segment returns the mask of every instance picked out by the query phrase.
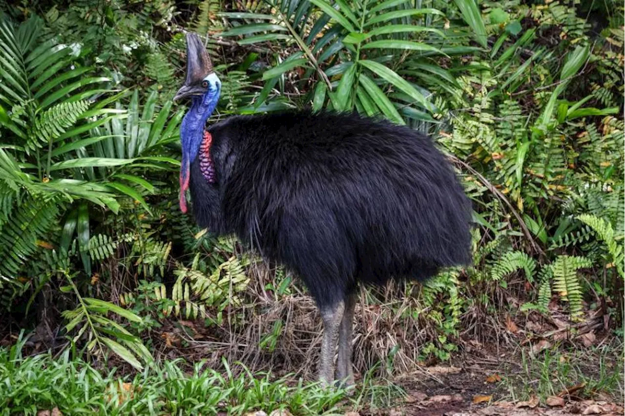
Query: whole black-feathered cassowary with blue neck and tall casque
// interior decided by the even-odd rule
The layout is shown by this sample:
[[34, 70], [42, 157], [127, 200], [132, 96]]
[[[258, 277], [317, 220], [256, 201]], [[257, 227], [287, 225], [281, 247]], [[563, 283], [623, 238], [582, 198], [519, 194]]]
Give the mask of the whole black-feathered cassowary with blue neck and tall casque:
[[[470, 259], [471, 204], [431, 139], [357, 114], [232, 116], [206, 127], [221, 81], [187, 34], [180, 207], [306, 285], [324, 326], [319, 379], [353, 384], [357, 285], [423, 280]], [[336, 374], [334, 350], [338, 343]]]

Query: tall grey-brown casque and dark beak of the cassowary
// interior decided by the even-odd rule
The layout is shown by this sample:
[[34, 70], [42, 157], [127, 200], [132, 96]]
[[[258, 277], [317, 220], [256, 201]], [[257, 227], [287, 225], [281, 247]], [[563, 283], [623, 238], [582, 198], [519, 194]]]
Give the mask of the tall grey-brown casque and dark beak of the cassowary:
[[208, 56], [206, 47], [195, 33], [187, 33], [187, 75], [181, 89], [176, 92], [174, 101], [202, 95], [206, 92], [199, 85], [208, 74], [212, 72], [211, 57]]

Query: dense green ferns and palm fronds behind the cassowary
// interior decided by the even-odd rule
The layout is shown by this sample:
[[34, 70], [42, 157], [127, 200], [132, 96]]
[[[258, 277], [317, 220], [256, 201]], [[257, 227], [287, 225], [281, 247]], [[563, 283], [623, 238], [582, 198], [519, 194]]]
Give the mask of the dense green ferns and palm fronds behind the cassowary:
[[2, 322], [62, 323], [68, 347], [143, 369], [141, 337], [149, 346], [168, 317], [242, 328], [256, 295], [300, 290], [178, 210], [185, 108], [171, 97], [192, 30], [223, 81], [214, 117], [357, 111], [431, 134], [454, 161], [474, 202], [474, 264], [396, 290], [416, 299], [397, 315], [434, 328], [419, 357], [448, 358], [477, 311], [602, 310], [618, 327], [622, 0], [55, 3], [0, 16]]

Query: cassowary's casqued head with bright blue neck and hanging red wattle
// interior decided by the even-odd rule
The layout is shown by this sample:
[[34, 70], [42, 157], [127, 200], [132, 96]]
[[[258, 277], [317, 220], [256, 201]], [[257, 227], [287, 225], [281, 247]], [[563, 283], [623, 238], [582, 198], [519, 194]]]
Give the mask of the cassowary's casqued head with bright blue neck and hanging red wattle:
[[191, 98], [191, 108], [180, 127], [183, 161], [180, 167], [180, 208], [186, 212], [184, 192], [189, 188], [189, 168], [199, 152], [204, 125], [211, 116], [221, 92], [221, 81], [212, 71], [211, 58], [194, 33], [187, 33], [187, 77], [174, 101]]

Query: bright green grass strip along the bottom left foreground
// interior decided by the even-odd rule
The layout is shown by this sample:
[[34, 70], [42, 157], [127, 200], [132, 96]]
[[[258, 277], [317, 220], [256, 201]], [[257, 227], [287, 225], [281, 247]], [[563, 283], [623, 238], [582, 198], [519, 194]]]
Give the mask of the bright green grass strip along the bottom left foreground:
[[64, 415], [241, 415], [254, 410], [270, 414], [287, 409], [298, 415], [341, 412], [344, 390], [318, 384], [287, 384], [269, 374], [243, 371], [236, 377], [227, 364], [225, 375], [197, 363], [190, 374], [182, 360], [164, 362], [134, 377], [101, 374], [69, 350], [59, 359], [50, 354], [22, 356], [23, 342], [0, 349], [0, 415], [36, 415], [54, 407]]

